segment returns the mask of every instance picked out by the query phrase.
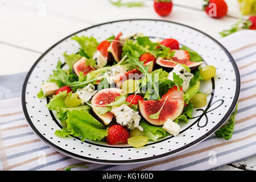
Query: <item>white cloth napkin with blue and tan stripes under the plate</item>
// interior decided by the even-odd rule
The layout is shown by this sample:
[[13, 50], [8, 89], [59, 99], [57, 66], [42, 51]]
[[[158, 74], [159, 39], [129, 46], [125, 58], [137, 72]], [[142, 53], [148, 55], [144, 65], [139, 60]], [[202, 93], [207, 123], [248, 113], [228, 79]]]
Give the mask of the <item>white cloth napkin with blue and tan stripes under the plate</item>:
[[[230, 140], [212, 136], [170, 158], [129, 165], [82, 162], [60, 154], [42, 142], [22, 113], [20, 92], [26, 73], [0, 77], [0, 169], [63, 170], [208, 170], [256, 154], [256, 31], [240, 31], [221, 43], [232, 53], [241, 74], [237, 121]], [[250, 66], [251, 65], [251, 66]], [[14, 84], [15, 83], [15, 84]]]

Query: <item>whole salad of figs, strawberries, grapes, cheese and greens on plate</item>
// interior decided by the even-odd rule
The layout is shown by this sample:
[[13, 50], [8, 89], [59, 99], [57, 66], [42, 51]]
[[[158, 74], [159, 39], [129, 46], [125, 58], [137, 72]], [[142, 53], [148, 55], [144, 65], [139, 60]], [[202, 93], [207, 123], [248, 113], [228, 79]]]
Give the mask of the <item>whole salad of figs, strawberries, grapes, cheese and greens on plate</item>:
[[200, 82], [216, 69], [175, 39], [122, 32], [101, 42], [71, 39], [79, 52], [64, 52], [38, 93], [63, 126], [59, 137], [142, 147], [179, 135], [193, 108], [207, 104], [211, 92], [200, 92]]

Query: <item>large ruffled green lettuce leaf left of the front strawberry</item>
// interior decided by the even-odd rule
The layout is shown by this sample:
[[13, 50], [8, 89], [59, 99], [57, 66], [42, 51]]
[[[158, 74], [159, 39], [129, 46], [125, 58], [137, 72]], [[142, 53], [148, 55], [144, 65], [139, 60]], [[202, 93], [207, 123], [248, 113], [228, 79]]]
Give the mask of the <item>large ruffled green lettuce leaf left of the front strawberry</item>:
[[101, 122], [83, 110], [71, 110], [67, 115], [67, 130], [74, 137], [81, 137], [83, 141], [86, 138], [101, 141], [108, 135], [108, 129], [104, 129]]

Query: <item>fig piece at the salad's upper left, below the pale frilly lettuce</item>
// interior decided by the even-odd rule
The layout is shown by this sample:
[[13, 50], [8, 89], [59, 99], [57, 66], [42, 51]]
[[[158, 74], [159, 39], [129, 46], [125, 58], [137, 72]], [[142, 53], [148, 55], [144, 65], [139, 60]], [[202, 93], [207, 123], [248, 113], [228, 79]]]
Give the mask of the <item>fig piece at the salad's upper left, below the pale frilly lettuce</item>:
[[86, 58], [81, 57], [79, 60], [77, 60], [73, 64], [72, 71], [76, 73], [77, 76], [79, 76], [79, 73], [82, 72], [82, 74], [87, 75], [91, 71], [93, 71], [94, 68], [92, 68], [90, 65], [86, 66]]

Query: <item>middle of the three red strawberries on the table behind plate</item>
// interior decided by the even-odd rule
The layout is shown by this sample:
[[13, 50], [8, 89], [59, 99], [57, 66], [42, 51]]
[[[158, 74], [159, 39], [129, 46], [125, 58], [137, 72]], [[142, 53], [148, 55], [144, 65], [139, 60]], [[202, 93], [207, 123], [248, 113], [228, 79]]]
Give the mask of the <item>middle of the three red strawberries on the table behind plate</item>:
[[228, 5], [224, 0], [204, 0], [203, 9], [212, 18], [222, 18], [228, 13]]

